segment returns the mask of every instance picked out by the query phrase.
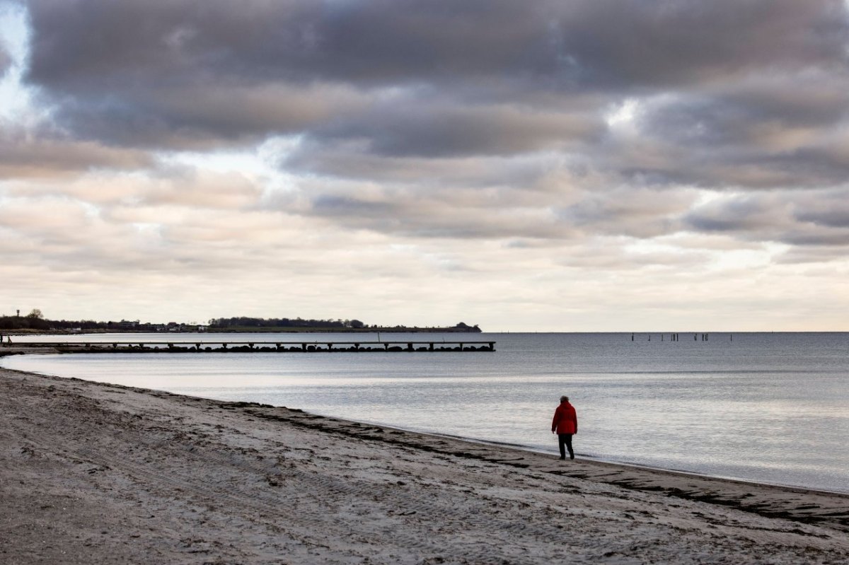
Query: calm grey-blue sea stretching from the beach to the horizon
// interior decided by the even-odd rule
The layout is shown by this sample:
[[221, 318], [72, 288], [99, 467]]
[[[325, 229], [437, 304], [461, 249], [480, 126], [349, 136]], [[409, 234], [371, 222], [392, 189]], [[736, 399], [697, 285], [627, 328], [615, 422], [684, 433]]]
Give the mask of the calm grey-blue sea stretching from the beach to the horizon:
[[[678, 335], [485, 333], [470, 338], [496, 341], [496, 352], [30, 355], [0, 364], [552, 454], [551, 417], [568, 394], [578, 456], [849, 492], [849, 333]], [[222, 338], [170, 339], [213, 337]]]

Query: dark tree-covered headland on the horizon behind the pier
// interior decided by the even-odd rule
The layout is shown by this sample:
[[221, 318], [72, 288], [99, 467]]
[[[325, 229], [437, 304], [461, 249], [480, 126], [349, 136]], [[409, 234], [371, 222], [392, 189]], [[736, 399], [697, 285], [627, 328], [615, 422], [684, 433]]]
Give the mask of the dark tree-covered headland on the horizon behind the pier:
[[188, 322], [95, 322], [93, 320], [49, 320], [41, 310], [25, 316], [0, 316], [0, 333], [147, 333], [147, 332], [209, 332], [209, 333], [481, 333], [476, 324], [459, 322], [445, 327], [378, 326], [359, 320], [314, 320], [296, 318], [256, 318], [235, 316], [213, 318], [205, 324]]

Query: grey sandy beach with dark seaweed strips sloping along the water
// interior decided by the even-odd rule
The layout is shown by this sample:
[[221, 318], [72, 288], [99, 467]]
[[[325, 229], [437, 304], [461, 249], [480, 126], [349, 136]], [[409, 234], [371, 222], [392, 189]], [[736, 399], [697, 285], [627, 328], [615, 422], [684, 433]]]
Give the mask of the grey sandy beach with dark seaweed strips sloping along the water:
[[0, 504], [3, 564], [849, 562], [846, 495], [8, 370]]

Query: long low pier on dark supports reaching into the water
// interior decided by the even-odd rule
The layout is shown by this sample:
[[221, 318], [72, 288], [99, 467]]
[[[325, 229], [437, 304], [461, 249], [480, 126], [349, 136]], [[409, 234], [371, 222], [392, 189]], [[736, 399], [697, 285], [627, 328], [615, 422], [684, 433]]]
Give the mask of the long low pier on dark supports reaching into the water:
[[198, 340], [198, 341], [65, 341], [65, 342], [20, 342], [18, 348], [53, 348], [62, 353], [193, 353], [193, 352], [287, 352], [287, 353], [335, 353], [335, 352], [397, 352], [397, 351], [495, 351], [494, 341], [458, 339], [452, 341], [266, 341], [246, 340]]

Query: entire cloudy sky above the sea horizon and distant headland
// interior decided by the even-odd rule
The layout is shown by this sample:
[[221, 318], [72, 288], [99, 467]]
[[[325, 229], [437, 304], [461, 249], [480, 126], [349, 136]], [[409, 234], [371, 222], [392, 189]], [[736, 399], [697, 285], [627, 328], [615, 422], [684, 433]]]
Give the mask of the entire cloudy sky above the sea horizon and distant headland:
[[0, 315], [849, 331], [844, 0], [0, 0]]

